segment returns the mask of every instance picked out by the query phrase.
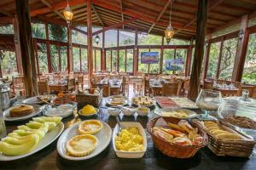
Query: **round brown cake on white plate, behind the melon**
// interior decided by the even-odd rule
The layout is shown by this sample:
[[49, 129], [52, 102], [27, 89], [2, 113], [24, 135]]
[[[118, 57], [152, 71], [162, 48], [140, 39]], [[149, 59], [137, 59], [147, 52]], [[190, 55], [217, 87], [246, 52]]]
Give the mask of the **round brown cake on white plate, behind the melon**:
[[9, 110], [9, 115], [11, 117], [26, 116], [34, 112], [34, 107], [32, 105], [15, 105]]

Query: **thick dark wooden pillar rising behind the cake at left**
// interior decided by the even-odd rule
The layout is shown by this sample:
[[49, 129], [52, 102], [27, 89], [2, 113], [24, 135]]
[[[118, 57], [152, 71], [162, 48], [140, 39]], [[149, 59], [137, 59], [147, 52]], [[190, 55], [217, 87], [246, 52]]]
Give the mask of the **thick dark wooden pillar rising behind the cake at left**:
[[32, 40], [28, 0], [15, 0], [19, 20], [20, 52], [26, 96], [38, 95], [38, 74]]

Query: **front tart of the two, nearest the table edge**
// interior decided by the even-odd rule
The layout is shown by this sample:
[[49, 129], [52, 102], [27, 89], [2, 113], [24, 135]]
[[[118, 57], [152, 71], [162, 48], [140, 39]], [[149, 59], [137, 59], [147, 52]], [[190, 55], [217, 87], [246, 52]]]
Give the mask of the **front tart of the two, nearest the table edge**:
[[88, 156], [95, 150], [98, 139], [90, 134], [74, 136], [67, 141], [67, 155], [81, 157]]

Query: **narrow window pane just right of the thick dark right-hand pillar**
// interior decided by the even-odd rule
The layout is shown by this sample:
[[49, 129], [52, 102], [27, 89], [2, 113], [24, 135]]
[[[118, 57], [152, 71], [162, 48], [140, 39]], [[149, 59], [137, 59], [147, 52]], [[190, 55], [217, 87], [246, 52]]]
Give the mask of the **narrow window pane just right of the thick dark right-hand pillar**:
[[209, 63], [207, 68], [207, 78], [216, 78], [218, 70], [218, 56], [220, 52], [220, 43], [221, 42], [215, 42], [211, 44]]

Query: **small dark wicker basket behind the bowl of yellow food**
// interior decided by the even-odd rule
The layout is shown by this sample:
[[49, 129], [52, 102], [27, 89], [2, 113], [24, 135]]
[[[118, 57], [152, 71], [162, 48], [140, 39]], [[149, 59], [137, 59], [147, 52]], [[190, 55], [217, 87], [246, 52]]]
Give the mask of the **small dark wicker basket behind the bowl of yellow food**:
[[102, 100], [102, 90], [100, 90], [100, 94], [76, 94], [76, 100], [78, 102], [78, 110], [82, 109], [84, 105], [97, 107]]

